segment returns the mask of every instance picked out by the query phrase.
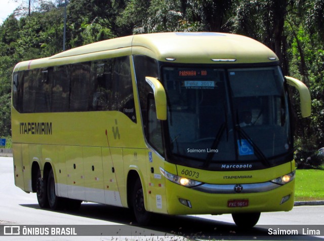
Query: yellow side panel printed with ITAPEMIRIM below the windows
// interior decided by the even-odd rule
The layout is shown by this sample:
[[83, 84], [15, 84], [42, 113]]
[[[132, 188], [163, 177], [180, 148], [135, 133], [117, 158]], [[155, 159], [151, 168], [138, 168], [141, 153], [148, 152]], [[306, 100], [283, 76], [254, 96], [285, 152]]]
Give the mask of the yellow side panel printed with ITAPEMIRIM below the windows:
[[20, 114], [12, 108], [12, 136], [13, 143], [146, 148], [141, 128], [119, 111]]

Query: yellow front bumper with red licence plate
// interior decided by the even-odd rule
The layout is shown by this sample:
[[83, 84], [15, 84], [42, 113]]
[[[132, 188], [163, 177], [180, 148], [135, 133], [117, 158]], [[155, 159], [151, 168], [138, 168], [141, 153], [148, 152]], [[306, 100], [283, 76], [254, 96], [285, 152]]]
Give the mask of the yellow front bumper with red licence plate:
[[171, 215], [290, 211], [294, 206], [295, 180], [270, 190], [256, 188], [251, 193], [239, 192], [239, 188], [238, 193], [211, 193], [169, 181], [166, 185], [167, 210]]

